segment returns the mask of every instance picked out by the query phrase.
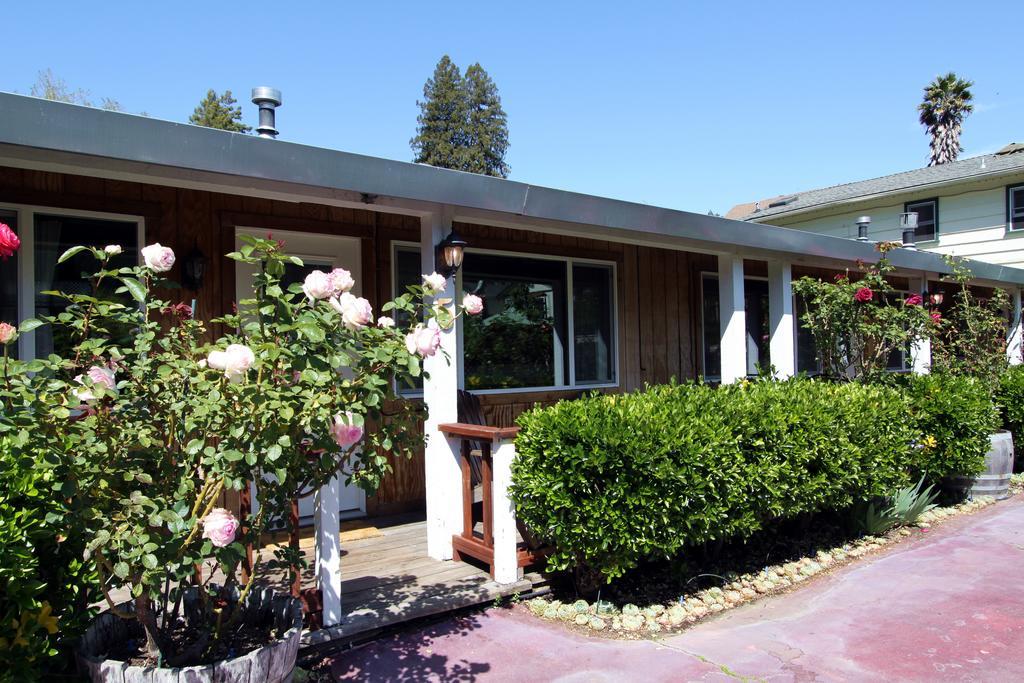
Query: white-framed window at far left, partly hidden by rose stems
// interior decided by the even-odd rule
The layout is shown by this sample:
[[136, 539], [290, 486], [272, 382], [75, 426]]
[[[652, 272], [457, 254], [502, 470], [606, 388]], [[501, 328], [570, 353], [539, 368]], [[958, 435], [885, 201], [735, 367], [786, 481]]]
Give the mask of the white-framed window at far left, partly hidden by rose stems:
[[[88, 253], [79, 253], [63, 263], [57, 259], [76, 245], [102, 248], [121, 245], [122, 253], [111, 259], [114, 267], [138, 263], [142, 219], [131, 216], [70, 212], [60, 209], [0, 206], [0, 221], [18, 233], [22, 249], [16, 259], [0, 262], [0, 318], [8, 322], [27, 317], [58, 315], [65, 302], [49, 291], [89, 293], [83, 273], [93, 272], [96, 263]], [[103, 296], [114, 296], [117, 284], [109, 285]], [[130, 331], [124, 331], [130, 335]], [[49, 326], [23, 335], [18, 354], [42, 357], [63, 352], [70, 340]], [[117, 334], [117, 331], [115, 331]]]

